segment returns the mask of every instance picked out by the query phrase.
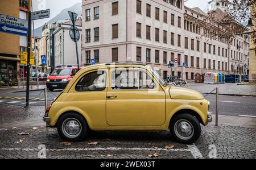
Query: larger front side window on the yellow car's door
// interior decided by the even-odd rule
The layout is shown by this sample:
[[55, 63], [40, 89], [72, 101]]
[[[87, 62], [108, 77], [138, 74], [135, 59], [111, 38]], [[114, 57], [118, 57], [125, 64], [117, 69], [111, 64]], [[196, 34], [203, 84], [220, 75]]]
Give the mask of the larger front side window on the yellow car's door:
[[154, 89], [155, 83], [144, 71], [119, 70], [112, 72], [112, 89]]

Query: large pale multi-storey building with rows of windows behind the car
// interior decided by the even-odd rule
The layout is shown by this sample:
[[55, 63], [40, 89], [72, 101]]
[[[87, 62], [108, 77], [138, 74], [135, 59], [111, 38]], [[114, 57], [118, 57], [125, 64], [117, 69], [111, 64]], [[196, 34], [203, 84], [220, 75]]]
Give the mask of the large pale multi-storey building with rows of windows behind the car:
[[[225, 3], [221, 5], [218, 10], [225, 9]], [[172, 74], [187, 80], [201, 72], [244, 70], [248, 40], [237, 36], [233, 45], [228, 45], [225, 39], [209, 37], [207, 30], [193, 22], [210, 24], [208, 14], [185, 7], [181, 0], [86, 0], [82, 18], [84, 65], [91, 59], [96, 63], [147, 63], [166, 79], [171, 75], [168, 63], [177, 60]]]

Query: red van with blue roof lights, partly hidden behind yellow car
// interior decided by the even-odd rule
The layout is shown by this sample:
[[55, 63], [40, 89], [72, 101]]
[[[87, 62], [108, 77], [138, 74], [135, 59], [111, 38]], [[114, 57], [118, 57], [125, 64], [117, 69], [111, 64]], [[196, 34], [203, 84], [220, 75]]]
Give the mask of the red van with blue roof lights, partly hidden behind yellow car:
[[72, 80], [78, 71], [77, 67], [72, 66], [56, 68], [47, 79], [47, 88], [51, 92], [54, 89], [65, 89], [68, 82]]

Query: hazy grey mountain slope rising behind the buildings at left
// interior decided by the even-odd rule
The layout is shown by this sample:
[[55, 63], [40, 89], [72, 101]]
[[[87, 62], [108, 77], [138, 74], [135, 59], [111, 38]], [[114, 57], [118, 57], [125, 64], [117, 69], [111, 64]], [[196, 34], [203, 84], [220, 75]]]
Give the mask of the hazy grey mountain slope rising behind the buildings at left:
[[[69, 15], [68, 15], [68, 11], [74, 11], [75, 13], [78, 14], [78, 16], [80, 17], [82, 15], [82, 3], [76, 3], [75, 5], [73, 5], [72, 7], [69, 7], [67, 9], [64, 9], [60, 12], [60, 14], [56, 15], [54, 18], [52, 18], [51, 20], [49, 20], [47, 23], [48, 24], [52, 24], [55, 23], [58, 20], [64, 20], [64, 19], [70, 19]], [[35, 29], [35, 35], [38, 37], [41, 37], [42, 35], [42, 27], [38, 27]]]

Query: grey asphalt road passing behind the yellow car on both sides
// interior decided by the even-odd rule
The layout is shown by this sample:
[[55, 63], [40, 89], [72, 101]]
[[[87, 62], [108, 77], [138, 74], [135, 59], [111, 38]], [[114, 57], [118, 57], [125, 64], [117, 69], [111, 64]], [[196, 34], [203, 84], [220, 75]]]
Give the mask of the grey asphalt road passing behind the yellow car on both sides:
[[[55, 90], [54, 92], [47, 93], [48, 103], [51, 103], [53, 99], [61, 92], [61, 90]], [[26, 92], [19, 93], [0, 93], [0, 97], [26, 97]], [[44, 92], [34, 91], [30, 92], [30, 98], [44, 98]], [[210, 112], [216, 113], [215, 95], [209, 95], [205, 97], [210, 101]], [[8, 105], [25, 105], [24, 99], [10, 99], [10, 98], [0, 98], [0, 103]], [[44, 106], [44, 101], [33, 100], [30, 101], [31, 106]], [[256, 97], [237, 97], [237, 96], [219, 96], [219, 111], [221, 115], [250, 115], [256, 116]]]

